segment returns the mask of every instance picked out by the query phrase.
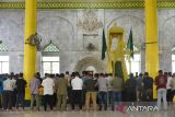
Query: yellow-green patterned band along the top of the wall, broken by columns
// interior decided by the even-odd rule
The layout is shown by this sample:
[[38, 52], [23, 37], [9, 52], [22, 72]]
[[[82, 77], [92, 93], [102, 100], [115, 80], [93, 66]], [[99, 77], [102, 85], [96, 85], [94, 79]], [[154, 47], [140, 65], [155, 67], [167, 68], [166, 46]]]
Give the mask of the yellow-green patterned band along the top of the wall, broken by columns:
[[[144, 0], [37, 0], [38, 9], [143, 9]], [[25, 0], [0, 0], [0, 9], [24, 9]], [[175, 0], [158, 0], [159, 9], [175, 9]]]

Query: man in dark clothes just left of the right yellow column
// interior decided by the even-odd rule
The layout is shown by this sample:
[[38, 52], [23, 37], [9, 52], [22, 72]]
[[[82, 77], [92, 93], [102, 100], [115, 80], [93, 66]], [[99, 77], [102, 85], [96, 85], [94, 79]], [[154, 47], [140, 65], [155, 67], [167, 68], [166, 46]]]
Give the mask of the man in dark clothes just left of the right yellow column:
[[153, 100], [153, 79], [145, 72], [143, 77], [143, 101], [151, 102]]

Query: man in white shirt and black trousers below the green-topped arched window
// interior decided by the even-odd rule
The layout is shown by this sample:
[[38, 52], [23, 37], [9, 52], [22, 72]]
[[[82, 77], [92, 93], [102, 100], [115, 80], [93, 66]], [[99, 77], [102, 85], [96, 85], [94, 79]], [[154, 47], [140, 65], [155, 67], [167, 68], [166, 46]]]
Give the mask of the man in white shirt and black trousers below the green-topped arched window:
[[47, 110], [47, 104], [52, 110], [52, 95], [54, 95], [54, 80], [50, 78], [50, 74], [43, 80], [42, 85], [44, 86], [44, 109]]

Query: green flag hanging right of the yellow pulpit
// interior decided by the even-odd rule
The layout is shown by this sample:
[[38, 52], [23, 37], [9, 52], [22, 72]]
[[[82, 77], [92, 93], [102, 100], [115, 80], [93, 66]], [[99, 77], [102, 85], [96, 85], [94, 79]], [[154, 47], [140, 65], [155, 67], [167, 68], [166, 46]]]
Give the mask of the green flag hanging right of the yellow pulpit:
[[133, 58], [133, 39], [132, 39], [132, 30], [130, 30], [127, 49], [129, 50], [129, 57]]

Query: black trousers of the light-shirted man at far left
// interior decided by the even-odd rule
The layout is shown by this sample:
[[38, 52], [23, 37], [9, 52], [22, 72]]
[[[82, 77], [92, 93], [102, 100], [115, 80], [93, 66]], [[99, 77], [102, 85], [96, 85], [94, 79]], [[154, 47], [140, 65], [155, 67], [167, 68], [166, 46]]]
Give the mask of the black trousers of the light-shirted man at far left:
[[3, 91], [2, 101], [3, 109], [12, 109], [12, 91]]

